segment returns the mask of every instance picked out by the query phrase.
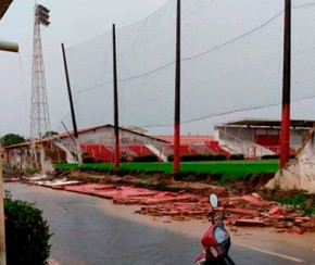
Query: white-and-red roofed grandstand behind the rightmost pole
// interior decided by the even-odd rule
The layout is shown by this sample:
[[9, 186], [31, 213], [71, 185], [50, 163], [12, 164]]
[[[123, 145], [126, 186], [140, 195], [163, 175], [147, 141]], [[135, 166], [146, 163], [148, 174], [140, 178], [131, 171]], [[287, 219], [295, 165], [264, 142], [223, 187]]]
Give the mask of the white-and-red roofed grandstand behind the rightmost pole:
[[[237, 119], [216, 125], [214, 138], [220, 146], [228, 147], [231, 153], [243, 153], [247, 159], [259, 159], [264, 155], [280, 154], [281, 125], [280, 119]], [[303, 144], [304, 134], [313, 126], [314, 121], [290, 121], [290, 154], [297, 154]]]

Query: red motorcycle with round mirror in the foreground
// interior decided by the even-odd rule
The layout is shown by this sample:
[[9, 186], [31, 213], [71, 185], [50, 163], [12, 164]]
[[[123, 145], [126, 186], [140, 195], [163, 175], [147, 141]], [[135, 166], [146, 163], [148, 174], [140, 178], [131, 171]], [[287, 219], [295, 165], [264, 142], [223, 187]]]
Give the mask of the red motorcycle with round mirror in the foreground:
[[234, 261], [228, 255], [231, 243], [230, 236], [223, 224], [225, 213], [223, 212], [219, 218], [215, 222], [214, 210], [218, 205], [218, 198], [216, 194], [211, 194], [209, 201], [212, 206], [212, 211], [209, 213], [209, 215], [212, 216], [212, 224], [201, 239], [201, 244], [204, 250], [197, 256], [194, 265], [235, 265]]

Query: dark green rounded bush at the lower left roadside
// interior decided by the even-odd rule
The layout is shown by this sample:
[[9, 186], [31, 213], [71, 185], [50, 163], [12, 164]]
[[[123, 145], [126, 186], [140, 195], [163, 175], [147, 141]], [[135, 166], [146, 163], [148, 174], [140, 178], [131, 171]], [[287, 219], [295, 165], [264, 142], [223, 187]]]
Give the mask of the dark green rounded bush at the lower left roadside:
[[5, 192], [4, 214], [8, 265], [48, 264], [52, 234], [42, 219], [42, 211], [32, 203], [12, 200]]

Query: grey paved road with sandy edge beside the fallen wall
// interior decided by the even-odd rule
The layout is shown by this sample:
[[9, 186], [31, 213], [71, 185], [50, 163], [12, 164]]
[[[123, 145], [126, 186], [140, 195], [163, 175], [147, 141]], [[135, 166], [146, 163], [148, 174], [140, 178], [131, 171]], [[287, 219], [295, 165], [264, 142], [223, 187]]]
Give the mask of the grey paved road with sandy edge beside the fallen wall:
[[[72, 192], [5, 184], [13, 198], [36, 202], [54, 236], [51, 256], [59, 264], [192, 264], [207, 227], [200, 220], [163, 223], [133, 214], [135, 207]], [[236, 264], [314, 264], [315, 235], [243, 230], [232, 238]]]

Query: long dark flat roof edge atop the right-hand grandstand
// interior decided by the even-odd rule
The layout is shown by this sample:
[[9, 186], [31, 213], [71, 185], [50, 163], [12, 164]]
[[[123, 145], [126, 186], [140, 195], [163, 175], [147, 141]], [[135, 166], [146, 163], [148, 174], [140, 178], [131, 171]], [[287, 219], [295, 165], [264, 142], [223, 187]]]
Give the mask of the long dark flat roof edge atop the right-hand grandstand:
[[[305, 119], [291, 119], [292, 128], [311, 128], [315, 125], [315, 121]], [[247, 127], [281, 127], [281, 121], [279, 119], [239, 119], [229, 122], [223, 126], [247, 126]]]

